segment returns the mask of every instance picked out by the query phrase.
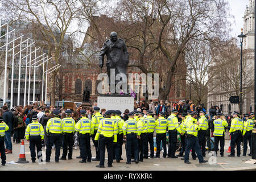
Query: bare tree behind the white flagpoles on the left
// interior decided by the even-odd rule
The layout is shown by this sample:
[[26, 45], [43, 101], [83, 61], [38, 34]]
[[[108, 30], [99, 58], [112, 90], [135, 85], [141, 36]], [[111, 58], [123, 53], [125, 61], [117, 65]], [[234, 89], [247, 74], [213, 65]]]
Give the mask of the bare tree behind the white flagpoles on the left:
[[[83, 6], [86, 5], [96, 7], [98, 1], [85, 0], [2, 0], [1, 12], [2, 16], [9, 20], [18, 20], [23, 22], [34, 22], [39, 27], [39, 31], [43, 35], [43, 40], [48, 46], [48, 55], [54, 55], [52, 64], [61, 64], [60, 55], [65, 43], [65, 36], [69, 33], [72, 36], [79, 32], [76, 26], [77, 21], [89, 19], [88, 14], [83, 14]], [[77, 27], [77, 28], [76, 28]], [[80, 31], [83, 33], [82, 31]], [[55, 84], [56, 75], [59, 69], [52, 72], [51, 76], [51, 101], [55, 103]]]

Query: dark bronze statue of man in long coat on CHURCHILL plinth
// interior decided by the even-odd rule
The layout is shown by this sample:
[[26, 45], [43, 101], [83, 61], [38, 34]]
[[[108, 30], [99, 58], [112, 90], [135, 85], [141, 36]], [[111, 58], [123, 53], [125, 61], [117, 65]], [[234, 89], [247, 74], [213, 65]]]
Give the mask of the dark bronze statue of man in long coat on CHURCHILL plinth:
[[[101, 48], [100, 55], [99, 55], [100, 68], [102, 68], [104, 65], [105, 55], [107, 58], [106, 68], [107, 68], [107, 74], [109, 77], [109, 85], [110, 85], [111, 69], [112, 71], [114, 69], [115, 76], [117, 76], [118, 73], [125, 74], [126, 82], [127, 82], [127, 65], [129, 64], [129, 53], [126, 48], [125, 41], [121, 38], [117, 38], [116, 32], [110, 33], [110, 39], [106, 40], [104, 42], [103, 47]], [[122, 78], [120, 80], [122, 80]], [[117, 83], [118, 83], [118, 80], [115, 80], [115, 85]], [[119, 92], [119, 90], [115, 90], [115, 91]], [[127, 90], [124, 90], [124, 92], [127, 92]]]

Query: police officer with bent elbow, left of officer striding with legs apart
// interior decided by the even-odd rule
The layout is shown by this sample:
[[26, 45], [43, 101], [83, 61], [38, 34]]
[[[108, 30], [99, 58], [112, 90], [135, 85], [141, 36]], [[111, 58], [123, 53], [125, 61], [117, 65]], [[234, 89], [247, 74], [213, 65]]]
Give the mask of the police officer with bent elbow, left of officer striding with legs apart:
[[177, 143], [177, 131], [181, 135], [183, 132], [180, 129], [178, 119], [177, 119], [178, 111], [177, 109], [172, 110], [172, 114], [167, 118], [167, 126], [169, 133], [169, 148], [168, 148], [168, 158], [178, 158], [175, 156], [176, 151], [176, 143]]

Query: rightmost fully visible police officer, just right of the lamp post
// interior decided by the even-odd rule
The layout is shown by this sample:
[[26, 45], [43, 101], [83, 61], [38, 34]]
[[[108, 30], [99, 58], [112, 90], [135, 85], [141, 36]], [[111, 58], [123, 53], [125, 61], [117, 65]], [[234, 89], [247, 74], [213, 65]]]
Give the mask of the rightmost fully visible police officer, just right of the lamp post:
[[246, 156], [247, 152], [247, 141], [250, 146], [250, 154], [251, 156], [251, 133], [253, 132], [253, 120], [250, 119], [250, 114], [245, 114], [246, 121], [243, 122], [243, 156]]

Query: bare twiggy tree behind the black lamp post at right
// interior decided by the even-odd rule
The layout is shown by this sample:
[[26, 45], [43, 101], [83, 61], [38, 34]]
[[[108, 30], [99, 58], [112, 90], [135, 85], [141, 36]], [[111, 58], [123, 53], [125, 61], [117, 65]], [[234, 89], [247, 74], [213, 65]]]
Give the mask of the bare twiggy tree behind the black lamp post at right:
[[[240, 48], [237, 47], [237, 40], [231, 39], [223, 43], [224, 46], [215, 49], [214, 64], [212, 72], [216, 72], [211, 89], [221, 92], [224, 96], [240, 96]], [[254, 79], [248, 69], [247, 60], [250, 59], [249, 54], [243, 54], [242, 63], [242, 99], [247, 93], [254, 88]], [[239, 105], [240, 107], [240, 105]]]

